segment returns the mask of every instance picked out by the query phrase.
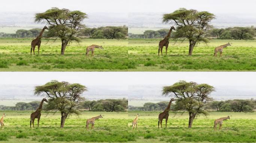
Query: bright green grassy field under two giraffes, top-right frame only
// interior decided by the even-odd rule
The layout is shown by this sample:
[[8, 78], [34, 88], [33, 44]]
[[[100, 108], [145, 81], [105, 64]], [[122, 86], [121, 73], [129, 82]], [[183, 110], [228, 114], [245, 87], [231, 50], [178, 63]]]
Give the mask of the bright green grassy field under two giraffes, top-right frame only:
[[[136, 69], [131, 71], [255, 71], [256, 40], [218, 40], [198, 44], [188, 56], [188, 42], [170, 41], [167, 55], [158, 57], [160, 39], [129, 39], [129, 61]], [[222, 57], [214, 57], [214, 48], [230, 42]], [[218, 53], [219, 56], [219, 53]]]

